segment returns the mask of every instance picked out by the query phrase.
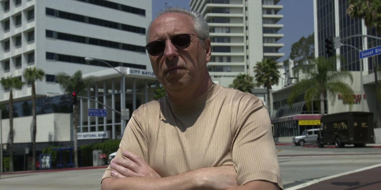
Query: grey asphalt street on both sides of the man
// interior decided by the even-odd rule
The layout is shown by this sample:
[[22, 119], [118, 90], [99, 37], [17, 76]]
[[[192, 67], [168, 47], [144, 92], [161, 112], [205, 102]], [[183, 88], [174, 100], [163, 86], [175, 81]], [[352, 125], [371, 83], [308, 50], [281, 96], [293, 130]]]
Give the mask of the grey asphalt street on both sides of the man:
[[[285, 189], [381, 189], [381, 167], [351, 173], [380, 164], [381, 146], [321, 149], [279, 143], [276, 147]], [[97, 190], [104, 169], [2, 174], [0, 190]]]

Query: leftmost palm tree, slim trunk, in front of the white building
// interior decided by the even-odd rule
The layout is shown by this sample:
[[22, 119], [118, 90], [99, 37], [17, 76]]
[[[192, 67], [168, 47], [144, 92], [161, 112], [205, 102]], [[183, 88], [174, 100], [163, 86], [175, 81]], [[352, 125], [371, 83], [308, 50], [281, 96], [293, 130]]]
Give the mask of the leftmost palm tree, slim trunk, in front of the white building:
[[9, 89], [9, 171], [13, 172], [13, 89], [20, 90], [25, 82], [21, 82], [18, 77], [8, 76], [1, 78], [0, 83], [5, 89]]

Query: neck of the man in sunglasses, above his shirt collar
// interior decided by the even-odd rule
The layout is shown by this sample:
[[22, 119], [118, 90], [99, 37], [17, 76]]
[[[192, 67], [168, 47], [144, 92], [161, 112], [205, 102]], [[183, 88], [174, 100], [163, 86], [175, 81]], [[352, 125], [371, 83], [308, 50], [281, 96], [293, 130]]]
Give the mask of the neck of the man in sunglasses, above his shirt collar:
[[187, 88], [181, 91], [167, 91], [168, 98], [173, 102], [186, 102], [193, 100], [194, 98], [199, 97], [203, 93], [207, 92], [208, 89], [212, 86], [213, 82], [209, 74], [206, 74], [198, 86], [192, 88]]

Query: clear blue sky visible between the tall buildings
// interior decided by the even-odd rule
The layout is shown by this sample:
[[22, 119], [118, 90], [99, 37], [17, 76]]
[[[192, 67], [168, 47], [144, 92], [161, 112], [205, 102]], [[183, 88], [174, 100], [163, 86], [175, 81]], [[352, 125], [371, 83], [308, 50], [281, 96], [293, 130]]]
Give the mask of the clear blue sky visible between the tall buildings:
[[[165, 8], [165, 5], [190, 9], [189, 2], [190, 0], [152, 0], [152, 16], [154, 17], [158, 11]], [[278, 12], [283, 14], [283, 19], [278, 22], [283, 24], [283, 28], [278, 33], [284, 34], [277, 43], [284, 43], [284, 47], [280, 48], [279, 52], [285, 53], [285, 56], [278, 59], [279, 62], [288, 58], [293, 43], [302, 36], [307, 37], [314, 32], [313, 2], [313, 0], [280, 0], [277, 4], [283, 5], [283, 9]]]

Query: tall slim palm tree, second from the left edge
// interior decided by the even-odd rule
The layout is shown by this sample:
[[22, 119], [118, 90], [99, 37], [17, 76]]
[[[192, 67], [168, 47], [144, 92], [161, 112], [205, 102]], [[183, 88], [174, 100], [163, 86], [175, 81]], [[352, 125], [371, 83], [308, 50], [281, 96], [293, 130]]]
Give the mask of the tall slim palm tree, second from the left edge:
[[36, 123], [36, 85], [35, 81], [42, 81], [45, 73], [41, 69], [36, 67], [28, 67], [24, 70], [24, 77], [32, 84], [32, 170], [36, 170], [36, 133], [37, 133], [37, 123]]

